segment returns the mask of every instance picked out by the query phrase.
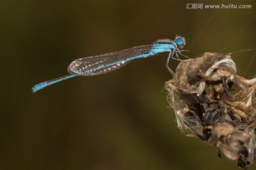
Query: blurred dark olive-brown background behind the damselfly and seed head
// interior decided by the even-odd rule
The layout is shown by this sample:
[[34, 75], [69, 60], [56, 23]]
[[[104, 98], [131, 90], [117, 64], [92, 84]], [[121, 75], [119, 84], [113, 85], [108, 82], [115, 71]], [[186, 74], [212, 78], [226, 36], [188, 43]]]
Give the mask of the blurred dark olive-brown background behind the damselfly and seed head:
[[[252, 8], [196, 10], [188, 3]], [[163, 91], [172, 78], [167, 54], [36, 94], [31, 87], [68, 74], [77, 58], [176, 34], [186, 37], [190, 57], [255, 48], [255, 7], [252, 0], [2, 0], [0, 169], [238, 169], [176, 128]], [[255, 55], [233, 55], [242, 76], [255, 76]]]

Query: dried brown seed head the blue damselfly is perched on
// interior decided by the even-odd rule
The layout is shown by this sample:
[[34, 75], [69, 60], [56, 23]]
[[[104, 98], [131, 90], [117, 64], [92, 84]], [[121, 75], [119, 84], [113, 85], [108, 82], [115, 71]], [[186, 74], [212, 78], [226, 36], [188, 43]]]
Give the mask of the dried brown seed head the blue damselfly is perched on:
[[178, 128], [242, 168], [256, 158], [255, 89], [256, 79], [238, 76], [229, 55], [210, 52], [181, 62], [176, 77], [166, 82]]

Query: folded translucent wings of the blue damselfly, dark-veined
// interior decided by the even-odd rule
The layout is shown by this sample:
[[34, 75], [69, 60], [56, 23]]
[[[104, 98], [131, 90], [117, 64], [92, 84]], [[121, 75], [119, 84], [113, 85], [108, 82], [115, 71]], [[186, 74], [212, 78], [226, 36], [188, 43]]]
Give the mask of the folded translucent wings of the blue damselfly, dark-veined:
[[127, 59], [149, 53], [151, 47], [152, 45], [141, 45], [119, 52], [80, 58], [70, 63], [68, 72], [82, 76], [95, 76], [112, 72], [131, 62], [131, 60], [127, 61]]

